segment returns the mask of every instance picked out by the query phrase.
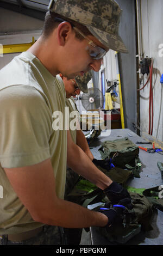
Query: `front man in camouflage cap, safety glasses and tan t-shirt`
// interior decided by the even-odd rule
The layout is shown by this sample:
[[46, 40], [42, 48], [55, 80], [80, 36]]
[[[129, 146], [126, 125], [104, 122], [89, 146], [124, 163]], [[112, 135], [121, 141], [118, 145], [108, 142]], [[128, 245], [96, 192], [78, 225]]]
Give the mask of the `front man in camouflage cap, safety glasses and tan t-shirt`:
[[103, 214], [64, 200], [67, 165], [114, 202], [129, 197], [62, 128], [65, 89], [56, 77], [99, 71], [109, 48], [126, 52], [120, 15], [112, 0], [51, 1], [40, 38], [0, 70], [0, 245], [59, 245], [59, 227], [114, 222], [116, 209]]

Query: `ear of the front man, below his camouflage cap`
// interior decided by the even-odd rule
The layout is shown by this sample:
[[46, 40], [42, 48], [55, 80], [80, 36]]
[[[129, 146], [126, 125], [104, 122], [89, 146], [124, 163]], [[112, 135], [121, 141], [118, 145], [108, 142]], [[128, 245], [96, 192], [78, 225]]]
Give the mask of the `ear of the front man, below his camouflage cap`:
[[57, 28], [57, 41], [60, 46], [64, 46], [67, 40], [72, 34], [71, 24], [67, 21], [64, 21], [59, 24]]

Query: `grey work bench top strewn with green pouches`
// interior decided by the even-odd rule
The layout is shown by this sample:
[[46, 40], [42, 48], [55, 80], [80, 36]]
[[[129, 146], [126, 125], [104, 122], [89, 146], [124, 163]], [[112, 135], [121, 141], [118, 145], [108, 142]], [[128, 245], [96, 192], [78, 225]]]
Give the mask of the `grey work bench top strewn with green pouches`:
[[[146, 142], [145, 139], [136, 135], [133, 131], [129, 129], [114, 129], [111, 130], [109, 136], [105, 136], [105, 132], [95, 139], [90, 144], [90, 149], [93, 156], [100, 160], [101, 154], [98, 149], [102, 142], [114, 141], [115, 139], [121, 139], [128, 137], [130, 141], [136, 142]], [[152, 148], [152, 145], [141, 144], [141, 147]], [[133, 178], [128, 180], [127, 185], [135, 188], [151, 188], [163, 185], [161, 173], [157, 166], [157, 162], [163, 162], [163, 155], [159, 153], [147, 153], [144, 150], [139, 151], [139, 158], [142, 164], [140, 178]], [[162, 192], [163, 196], [163, 192]], [[139, 234], [130, 239], [125, 245], [163, 245], [163, 212], [160, 210], [154, 210], [151, 225], [153, 230], [151, 231], [141, 231]], [[91, 245], [112, 245], [116, 243], [110, 243], [96, 227], [90, 228]]]

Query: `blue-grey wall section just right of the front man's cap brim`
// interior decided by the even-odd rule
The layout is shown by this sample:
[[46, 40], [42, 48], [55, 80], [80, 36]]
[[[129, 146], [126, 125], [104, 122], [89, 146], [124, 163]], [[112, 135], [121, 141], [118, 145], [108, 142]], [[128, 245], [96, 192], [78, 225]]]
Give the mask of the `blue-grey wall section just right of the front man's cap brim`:
[[117, 0], [122, 12], [120, 22], [120, 36], [128, 49], [128, 53], [118, 56], [125, 127], [136, 132], [133, 123], [137, 123], [136, 99], [136, 27], [135, 27], [135, 1]]

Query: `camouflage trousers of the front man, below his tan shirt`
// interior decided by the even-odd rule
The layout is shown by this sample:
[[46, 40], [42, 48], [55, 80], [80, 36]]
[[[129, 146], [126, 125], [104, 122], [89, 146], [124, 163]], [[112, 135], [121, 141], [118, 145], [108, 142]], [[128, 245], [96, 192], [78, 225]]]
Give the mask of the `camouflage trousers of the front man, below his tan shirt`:
[[45, 225], [36, 236], [22, 241], [10, 241], [8, 235], [0, 237], [0, 245], [65, 245], [64, 229]]

